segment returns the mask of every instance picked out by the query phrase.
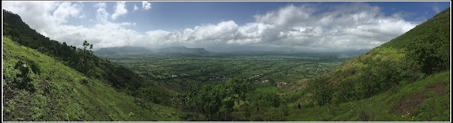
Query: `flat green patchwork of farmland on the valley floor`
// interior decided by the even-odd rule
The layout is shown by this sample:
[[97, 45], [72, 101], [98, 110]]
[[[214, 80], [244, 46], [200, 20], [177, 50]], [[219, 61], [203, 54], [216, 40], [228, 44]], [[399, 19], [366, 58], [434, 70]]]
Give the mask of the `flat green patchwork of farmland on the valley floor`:
[[[144, 78], [168, 86], [190, 81], [204, 84], [226, 82], [231, 78], [253, 81], [257, 91], [277, 92], [277, 83], [294, 83], [303, 78], [331, 71], [355, 57], [353, 54], [329, 53], [210, 53], [206, 55], [154, 53], [122, 57], [103, 57], [125, 66]], [[173, 84], [172, 84], [173, 83]], [[174, 84], [178, 83], [178, 84]], [[180, 90], [180, 89], [179, 89]]]

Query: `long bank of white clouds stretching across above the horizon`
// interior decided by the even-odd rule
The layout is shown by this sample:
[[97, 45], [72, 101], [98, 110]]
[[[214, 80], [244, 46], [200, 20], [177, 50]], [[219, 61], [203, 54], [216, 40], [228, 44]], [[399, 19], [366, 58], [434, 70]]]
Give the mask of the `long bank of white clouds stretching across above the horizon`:
[[[237, 25], [234, 21], [198, 25], [176, 31], [149, 30], [138, 33], [128, 28], [135, 23], [113, 23], [109, 21], [122, 14], [113, 15], [106, 11], [101, 2], [93, 6], [96, 25], [66, 25], [69, 18], [83, 14], [81, 4], [65, 2], [2, 2], [4, 8], [18, 13], [25, 23], [53, 40], [81, 46], [88, 40], [95, 47], [117, 47], [125, 45], [281, 45], [318, 47], [322, 49], [370, 49], [382, 45], [398, 35], [414, 28], [417, 23], [403, 19], [404, 14], [384, 16], [377, 6], [352, 2], [321, 8], [315, 5], [288, 5], [256, 14], [254, 22]], [[5, 5], [6, 4], [6, 5]], [[125, 8], [124, 3], [117, 3]], [[144, 2], [147, 10], [151, 4]], [[59, 9], [65, 7], [65, 9]], [[56, 11], [62, 12], [56, 12]], [[63, 12], [64, 11], [64, 12]], [[127, 13], [127, 12], [125, 12]], [[124, 14], [125, 14], [124, 13]]]

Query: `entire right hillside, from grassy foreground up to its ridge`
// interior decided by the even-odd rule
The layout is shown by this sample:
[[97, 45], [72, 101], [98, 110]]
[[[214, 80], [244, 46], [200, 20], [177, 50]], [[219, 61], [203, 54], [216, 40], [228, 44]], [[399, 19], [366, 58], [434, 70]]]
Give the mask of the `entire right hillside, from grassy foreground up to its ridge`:
[[287, 119], [449, 121], [449, 16], [447, 8], [394, 40], [306, 81], [306, 88], [285, 98], [304, 97], [293, 102], [317, 113]]

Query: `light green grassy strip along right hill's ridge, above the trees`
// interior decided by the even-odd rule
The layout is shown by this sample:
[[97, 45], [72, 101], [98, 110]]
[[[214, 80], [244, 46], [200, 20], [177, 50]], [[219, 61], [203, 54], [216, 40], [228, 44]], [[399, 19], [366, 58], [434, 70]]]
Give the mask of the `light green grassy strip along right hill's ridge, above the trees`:
[[333, 76], [331, 81], [336, 83], [338, 82], [338, 80], [353, 76], [357, 69], [368, 65], [367, 61], [373, 61], [378, 57], [382, 58], [382, 61], [401, 62], [401, 58], [403, 58], [406, 54], [406, 47], [415, 40], [426, 40], [425, 35], [429, 35], [428, 32], [430, 32], [432, 28], [438, 30], [437, 33], [439, 34], [439, 38], [449, 38], [449, 13], [449, 8], [447, 8], [445, 11], [442, 11], [436, 16], [430, 18], [430, 20], [417, 25], [407, 33], [404, 33], [403, 35], [400, 35], [395, 39], [384, 43], [382, 46], [376, 47], [369, 52], [360, 55], [359, 57], [345, 61], [340, 66], [337, 66], [335, 69], [333, 69], [332, 72], [329, 72], [329, 75]]

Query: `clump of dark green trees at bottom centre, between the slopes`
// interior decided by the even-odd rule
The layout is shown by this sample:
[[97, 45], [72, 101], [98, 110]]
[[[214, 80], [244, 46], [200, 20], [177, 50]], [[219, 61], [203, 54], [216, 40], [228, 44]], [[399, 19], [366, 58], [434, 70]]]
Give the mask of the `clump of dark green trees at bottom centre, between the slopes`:
[[253, 87], [247, 81], [231, 79], [226, 85], [215, 86], [201, 86], [199, 82], [191, 82], [184, 92], [179, 95], [183, 111], [199, 113], [208, 120], [226, 120], [234, 110], [234, 102], [236, 100], [245, 102], [253, 92]]

